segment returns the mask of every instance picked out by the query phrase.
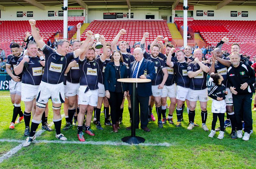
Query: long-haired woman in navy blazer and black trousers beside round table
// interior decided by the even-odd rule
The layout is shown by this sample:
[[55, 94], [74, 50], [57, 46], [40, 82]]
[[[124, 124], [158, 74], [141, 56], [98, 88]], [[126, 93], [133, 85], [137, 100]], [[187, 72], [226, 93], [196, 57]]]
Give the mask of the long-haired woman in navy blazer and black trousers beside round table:
[[120, 51], [114, 51], [111, 62], [109, 62], [104, 72], [104, 87], [106, 97], [110, 105], [110, 116], [112, 119], [112, 127], [114, 132], [118, 132], [120, 106], [123, 99], [127, 95], [127, 85], [122, 82], [117, 82], [117, 79], [127, 78], [128, 72], [126, 65], [123, 63], [123, 57]]

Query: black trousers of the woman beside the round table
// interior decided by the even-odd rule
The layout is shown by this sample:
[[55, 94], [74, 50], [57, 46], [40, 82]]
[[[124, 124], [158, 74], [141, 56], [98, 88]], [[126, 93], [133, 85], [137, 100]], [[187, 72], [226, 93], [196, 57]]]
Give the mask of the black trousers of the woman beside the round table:
[[110, 105], [110, 116], [113, 124], [116, 124], [116, 121], [119, 121], [120, 117], [120, 106], [124, 99], [123, 92], [109, 92], [110, 98], [108, 103]]

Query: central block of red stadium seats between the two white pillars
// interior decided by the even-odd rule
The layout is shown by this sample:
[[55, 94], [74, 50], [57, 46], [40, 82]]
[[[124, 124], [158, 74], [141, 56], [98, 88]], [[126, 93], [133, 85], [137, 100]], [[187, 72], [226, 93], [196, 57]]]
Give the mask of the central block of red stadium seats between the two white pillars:
[[91, 24], [86, 28], [84, 33], [81, 34], [81, 39], [85, 39], [86, 31], [91, 30], [95, 33], [104, 34], [108, 41], [112, 41], [121, 29], [125, 29], [127, 33], [124, 34], [120, 40], [126, 40], [130, 46], [132, 46], [134, 42], [140, 41], [143, 33], [145, 32], [149, 33], [149, 38], [146, 41], [146, 45], [155, 40], [157, 35], [168, 37], [169, 41], [172, 40], [172, 35], [169, 31], [167, 23], [163, 20], [93, 20]]

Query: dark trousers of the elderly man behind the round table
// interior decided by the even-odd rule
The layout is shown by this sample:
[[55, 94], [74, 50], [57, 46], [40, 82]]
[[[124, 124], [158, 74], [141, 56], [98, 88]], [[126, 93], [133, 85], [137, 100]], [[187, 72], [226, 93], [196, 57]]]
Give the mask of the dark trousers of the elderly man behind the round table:
[[[136, 89], [136, 93], [137, 89]], [[133, 97], [131, 95], [131, 102], [133, 101]], [[136, 94], [135, 97], [135, 127], [144, 129], [148, 125], [148, 101], [149, 96], [141, 97]], [[133, 107], [132, 107], [133, 109]]]

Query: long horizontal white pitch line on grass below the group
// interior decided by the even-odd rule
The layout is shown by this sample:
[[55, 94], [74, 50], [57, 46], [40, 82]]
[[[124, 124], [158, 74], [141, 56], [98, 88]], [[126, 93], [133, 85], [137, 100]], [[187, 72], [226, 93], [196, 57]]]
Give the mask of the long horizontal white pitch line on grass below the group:
[[[14, 140], [14, 139], [0, 139], [0, 142], [16, 142], [16, 143], [22, 143], [22, 140]], [[170, 147], [174, 145], [173, 143], [140, 143], [140, 144], [128, 144], [124, 142], [112, 142], [112, 141], [59, 141], [59, 140], [34, 140], [32, 143], [59, 143], [59, 144], [90, 144], [90, 145], [113, 145], [113, 146], [119, 146], [119, 145], [135, 145], [135, 146], [167, 146]]]

